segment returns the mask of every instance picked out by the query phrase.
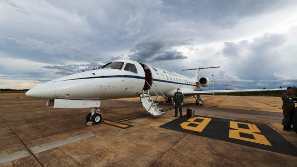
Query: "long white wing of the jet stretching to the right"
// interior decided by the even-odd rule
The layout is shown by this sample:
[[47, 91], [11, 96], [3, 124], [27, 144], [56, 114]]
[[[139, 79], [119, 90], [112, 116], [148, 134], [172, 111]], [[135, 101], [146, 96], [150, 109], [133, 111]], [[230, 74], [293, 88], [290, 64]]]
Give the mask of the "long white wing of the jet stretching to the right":
[[184, 91], [184, 95], [199, 95], [199, 94], [212, 94], [212, 93], [233, 93], [233, 92], [251, 92], [251, 91], [274, 91], [286, 90], [286, 88], [278, 89], [239, 89], [239, 90], [200, 90], [200, 91]]

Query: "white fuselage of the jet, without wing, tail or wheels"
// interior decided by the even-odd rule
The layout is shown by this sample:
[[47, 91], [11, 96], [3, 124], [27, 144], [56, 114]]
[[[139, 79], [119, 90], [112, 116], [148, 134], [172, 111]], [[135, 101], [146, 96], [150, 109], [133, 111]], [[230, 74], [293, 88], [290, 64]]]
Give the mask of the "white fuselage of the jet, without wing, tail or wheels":
[[45, 99], [104, 100], [139, 97], [143, 90], [173, 97], [181, 91], [199, 90], [196, 78], [168, 72], [132, 60], [115, 60], [103, 67], [52, 80], [30, 89], [26, 95]]

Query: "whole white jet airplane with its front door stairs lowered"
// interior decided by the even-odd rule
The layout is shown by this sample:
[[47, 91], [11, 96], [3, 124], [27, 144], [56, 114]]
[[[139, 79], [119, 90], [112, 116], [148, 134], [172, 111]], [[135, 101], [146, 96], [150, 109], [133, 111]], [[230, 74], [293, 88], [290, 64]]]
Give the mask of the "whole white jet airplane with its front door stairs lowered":
[[[65, 76], [26, 92], [27, 96], [48, 99], [46, 106], [53, 108], [91, 108], [86, 121], [99, 124], [102, 117], [99, 113], [100, 100], [140, 96], [145, 110], [153, 116], [164, 114], [157, 107], [150, 95], [163, 96], [166, 103], [172, 102], [176, 88], [180, 87], [185, 97], [195, 97], [196, 105], [202, 105], [201, 94], [267, 91], [285, 89], [242, 89], [242, 90], [205, 90], [210, 80], [199, 78], [199, 70], [218, 67], [205, 67], [196, 70], [194, 78], [154, 68], [132, 60], [115, 60], [92, 71]], [[152, 90], [152, 91], [149, 91]]]

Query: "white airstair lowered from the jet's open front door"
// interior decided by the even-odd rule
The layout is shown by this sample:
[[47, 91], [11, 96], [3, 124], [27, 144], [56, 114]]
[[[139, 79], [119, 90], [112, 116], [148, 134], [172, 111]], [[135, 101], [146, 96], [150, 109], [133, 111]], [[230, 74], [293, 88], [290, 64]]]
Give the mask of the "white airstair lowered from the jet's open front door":
[[[159, 92], [162, 94], [162, 96], [164, 98], [166, 98], [166, 96], [161, 92], [161, 90], [154, 83], [152, 83], [152, 84], [159, 90]], [[162, 108], [157, 107], [157, 105], [160, 103], [160, 101], [163, 100], [163, 99], [160, 99], [160, 97], [162, 98], [162, 96], [158, 95], [156, 93], [156, 91], [150, 85], [149, 85], [149, 87], [150, 87], [149, 90], [152, 90], [156, 94], [156, 98], [155, 99], [151, 98], [151, 96], [149, 94], [149, 90], [143, 90], [143, 93], [140, 95], [140, 100], [141, 100], [142, 105], [144, 106], [145, 110], [148, 111], [148, 113], [153, 116], [160, 116], [162, 114], [165, 114], [166, 112], [160, 111]], [[158, 102], [156, 102], [156, 101], [158, 101]]]

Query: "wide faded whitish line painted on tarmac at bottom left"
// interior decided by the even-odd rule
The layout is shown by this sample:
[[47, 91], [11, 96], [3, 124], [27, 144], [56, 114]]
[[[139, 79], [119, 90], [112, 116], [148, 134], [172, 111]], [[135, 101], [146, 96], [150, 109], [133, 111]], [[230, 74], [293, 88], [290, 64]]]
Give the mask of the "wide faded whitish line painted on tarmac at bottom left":
[[[77, 136], [69, 137], [69, 138], [66, 138], [66, 139], [58, 140], [58, 141], [55, 141], [55, 142], [51, 142], [51, 143], [43, 144], [43, 145], [40, 145], [40, 146], [32, 147], [32, 148], [30, 148], [30, 151], [33, 154], [38, 154], [38, 153], [41, 153], [41, 152], [44, 152], [44, 151], [47, 151], [47, 150], [50, 150], [50, 149], [53, 149], [53, 148], [56, 148], [56, 147], [60, 147], [60, 146], [70, 144], [70, 143], [73, 143], [73, 142], [76, 142], [76, 141], [79, 141], [79, 140], [82, 140], [82, 139], [85, 139], [85, 138], [88, 138], [88, 137], [95, 136], [95, 135], [96, 135], [95, 133], [88, 132], [88, 133], [84, 133], [84, 134], [81, 134], [81, 135], [77, 135]], [[10, 154], [5, 154], [5, 155], [0, 156], [0, 164], [7, 163], [7, 162], [10, 162], [10, 161], [13, 161], [13, 160], [18, 160], [18, 159], [21, 159], [21, 158], [24, 158], [24, 157], [28, 157], [30, 155], [31, 155], [31, 153], [29, 151], [27, 151], [27, 150], [21, 150], [21, 151], [17, 151], [17, 152], [10, 153]]]

